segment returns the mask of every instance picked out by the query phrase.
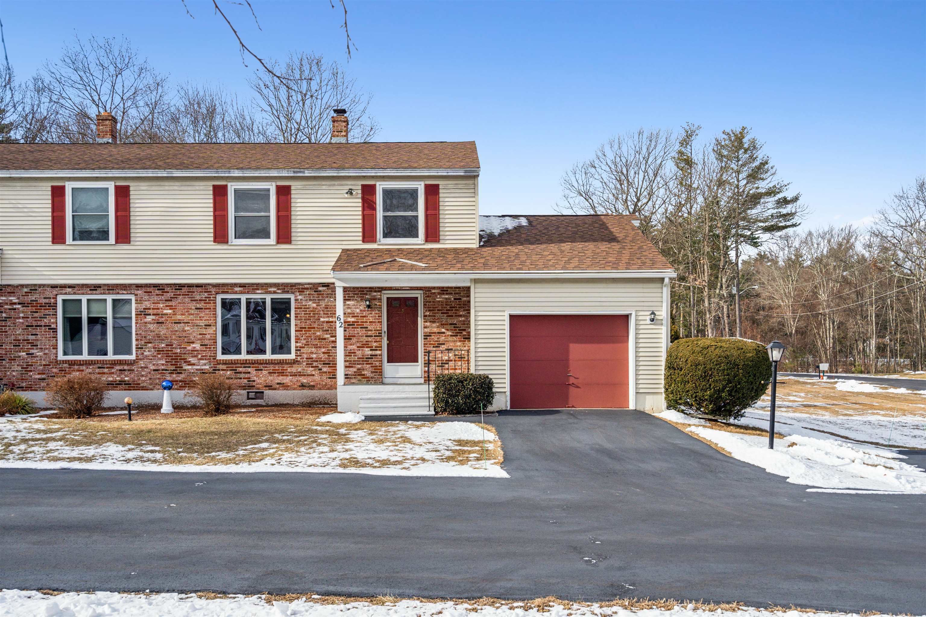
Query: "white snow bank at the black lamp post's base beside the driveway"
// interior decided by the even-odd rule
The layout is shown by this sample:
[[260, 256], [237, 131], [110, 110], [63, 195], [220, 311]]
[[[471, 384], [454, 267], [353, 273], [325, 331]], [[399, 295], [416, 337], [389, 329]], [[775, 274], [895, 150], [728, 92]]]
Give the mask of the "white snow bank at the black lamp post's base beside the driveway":
[[926, 471], [901, 462], [898, 459], [907, 457], [888, 450], [796, 434], [777, 440], [771, 450], [763, 436], [702, 426], [688, 431], [724, 448], [734, 459], [783, 475], [795, 485], [926, 494]]

